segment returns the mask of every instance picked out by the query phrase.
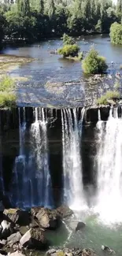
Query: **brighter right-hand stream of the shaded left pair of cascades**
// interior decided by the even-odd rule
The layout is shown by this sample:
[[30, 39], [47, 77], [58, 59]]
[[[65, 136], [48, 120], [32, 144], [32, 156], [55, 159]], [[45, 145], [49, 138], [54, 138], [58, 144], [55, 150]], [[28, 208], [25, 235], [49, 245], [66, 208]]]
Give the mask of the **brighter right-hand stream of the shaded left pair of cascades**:
[[[53, 202], [48, 159], [47, 117], [43, 108], [35, 108], [35, 123], [31, 124], [31, 139], [33, 142], [31, 160], [35, 161], [36, 181], [32, 186], [35, 189], [31, 194], [34, 195], [36, 190], [38, 204], [50, 207]], [[30, 182], [33, 183], [34, 180], [30, 180]]]

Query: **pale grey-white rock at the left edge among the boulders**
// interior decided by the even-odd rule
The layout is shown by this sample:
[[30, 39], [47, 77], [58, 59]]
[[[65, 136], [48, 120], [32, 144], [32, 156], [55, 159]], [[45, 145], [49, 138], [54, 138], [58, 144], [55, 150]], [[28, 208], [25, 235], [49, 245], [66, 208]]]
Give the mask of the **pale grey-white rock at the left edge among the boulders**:
[[11, 222], [4, 220], [2, 221], [1, 226], [2, 226], [2, 232], [0, 236], [2, 237], [2, 239], [6, 239], [8, 236], [13, 234], [14, 229], [13, 229], [13, 224]]

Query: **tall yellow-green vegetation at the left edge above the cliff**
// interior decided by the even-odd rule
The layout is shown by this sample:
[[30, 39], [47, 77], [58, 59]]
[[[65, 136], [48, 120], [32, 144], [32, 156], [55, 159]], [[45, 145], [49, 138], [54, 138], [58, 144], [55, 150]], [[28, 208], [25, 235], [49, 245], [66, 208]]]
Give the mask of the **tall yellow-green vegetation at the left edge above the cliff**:
[[12, 92], [15, 87], [14, 81], [9, 76], [3, 76], [0, 81], [0, 107], [16, 106], [16, 95]]

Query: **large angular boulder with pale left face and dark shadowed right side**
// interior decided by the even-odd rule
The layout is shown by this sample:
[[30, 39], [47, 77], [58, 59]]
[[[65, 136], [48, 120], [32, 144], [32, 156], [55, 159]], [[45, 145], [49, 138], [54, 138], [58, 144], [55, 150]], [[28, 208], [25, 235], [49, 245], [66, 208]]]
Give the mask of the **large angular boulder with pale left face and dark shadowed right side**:
[[47, 240], [43, 232], [30, 228], [20, 239], [20, 245], [29, 249], [43, 249], [47, 247]]

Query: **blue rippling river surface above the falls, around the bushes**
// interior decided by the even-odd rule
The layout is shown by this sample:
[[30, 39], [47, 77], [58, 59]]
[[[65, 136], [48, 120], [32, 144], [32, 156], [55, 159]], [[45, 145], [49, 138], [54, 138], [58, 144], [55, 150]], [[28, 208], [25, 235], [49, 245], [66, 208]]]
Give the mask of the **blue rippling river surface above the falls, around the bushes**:
[[[18, 106], [73, 107], [86, 106], [116, 83], [116, 71], [122, 64], [122, 47], [113, 46], [108, 35], [90, 35], [76, 39], [81, 51], [94, 45], [99, 54], [105, 56], [109, 65], [108, 74], [96, 83], [87, 81], [80, 61], [50, 54], [50, 50], [62, 46], [61, 39], [46, 40], [24, 47], [7, 47], [3, 54], [35, 58], [34, 61], [14, 69], [12, 76], [28, 78], [17, 83]], [[40, 47], [39, 47], [40, 44]], [[113, 61], [113, 65], [111, 64]], [[121, 72], [120, 72], [121, 73]], [[111, 76], [109, 76], [111, 74]], [[119, 79], [120, 80], [120, 79]]]

